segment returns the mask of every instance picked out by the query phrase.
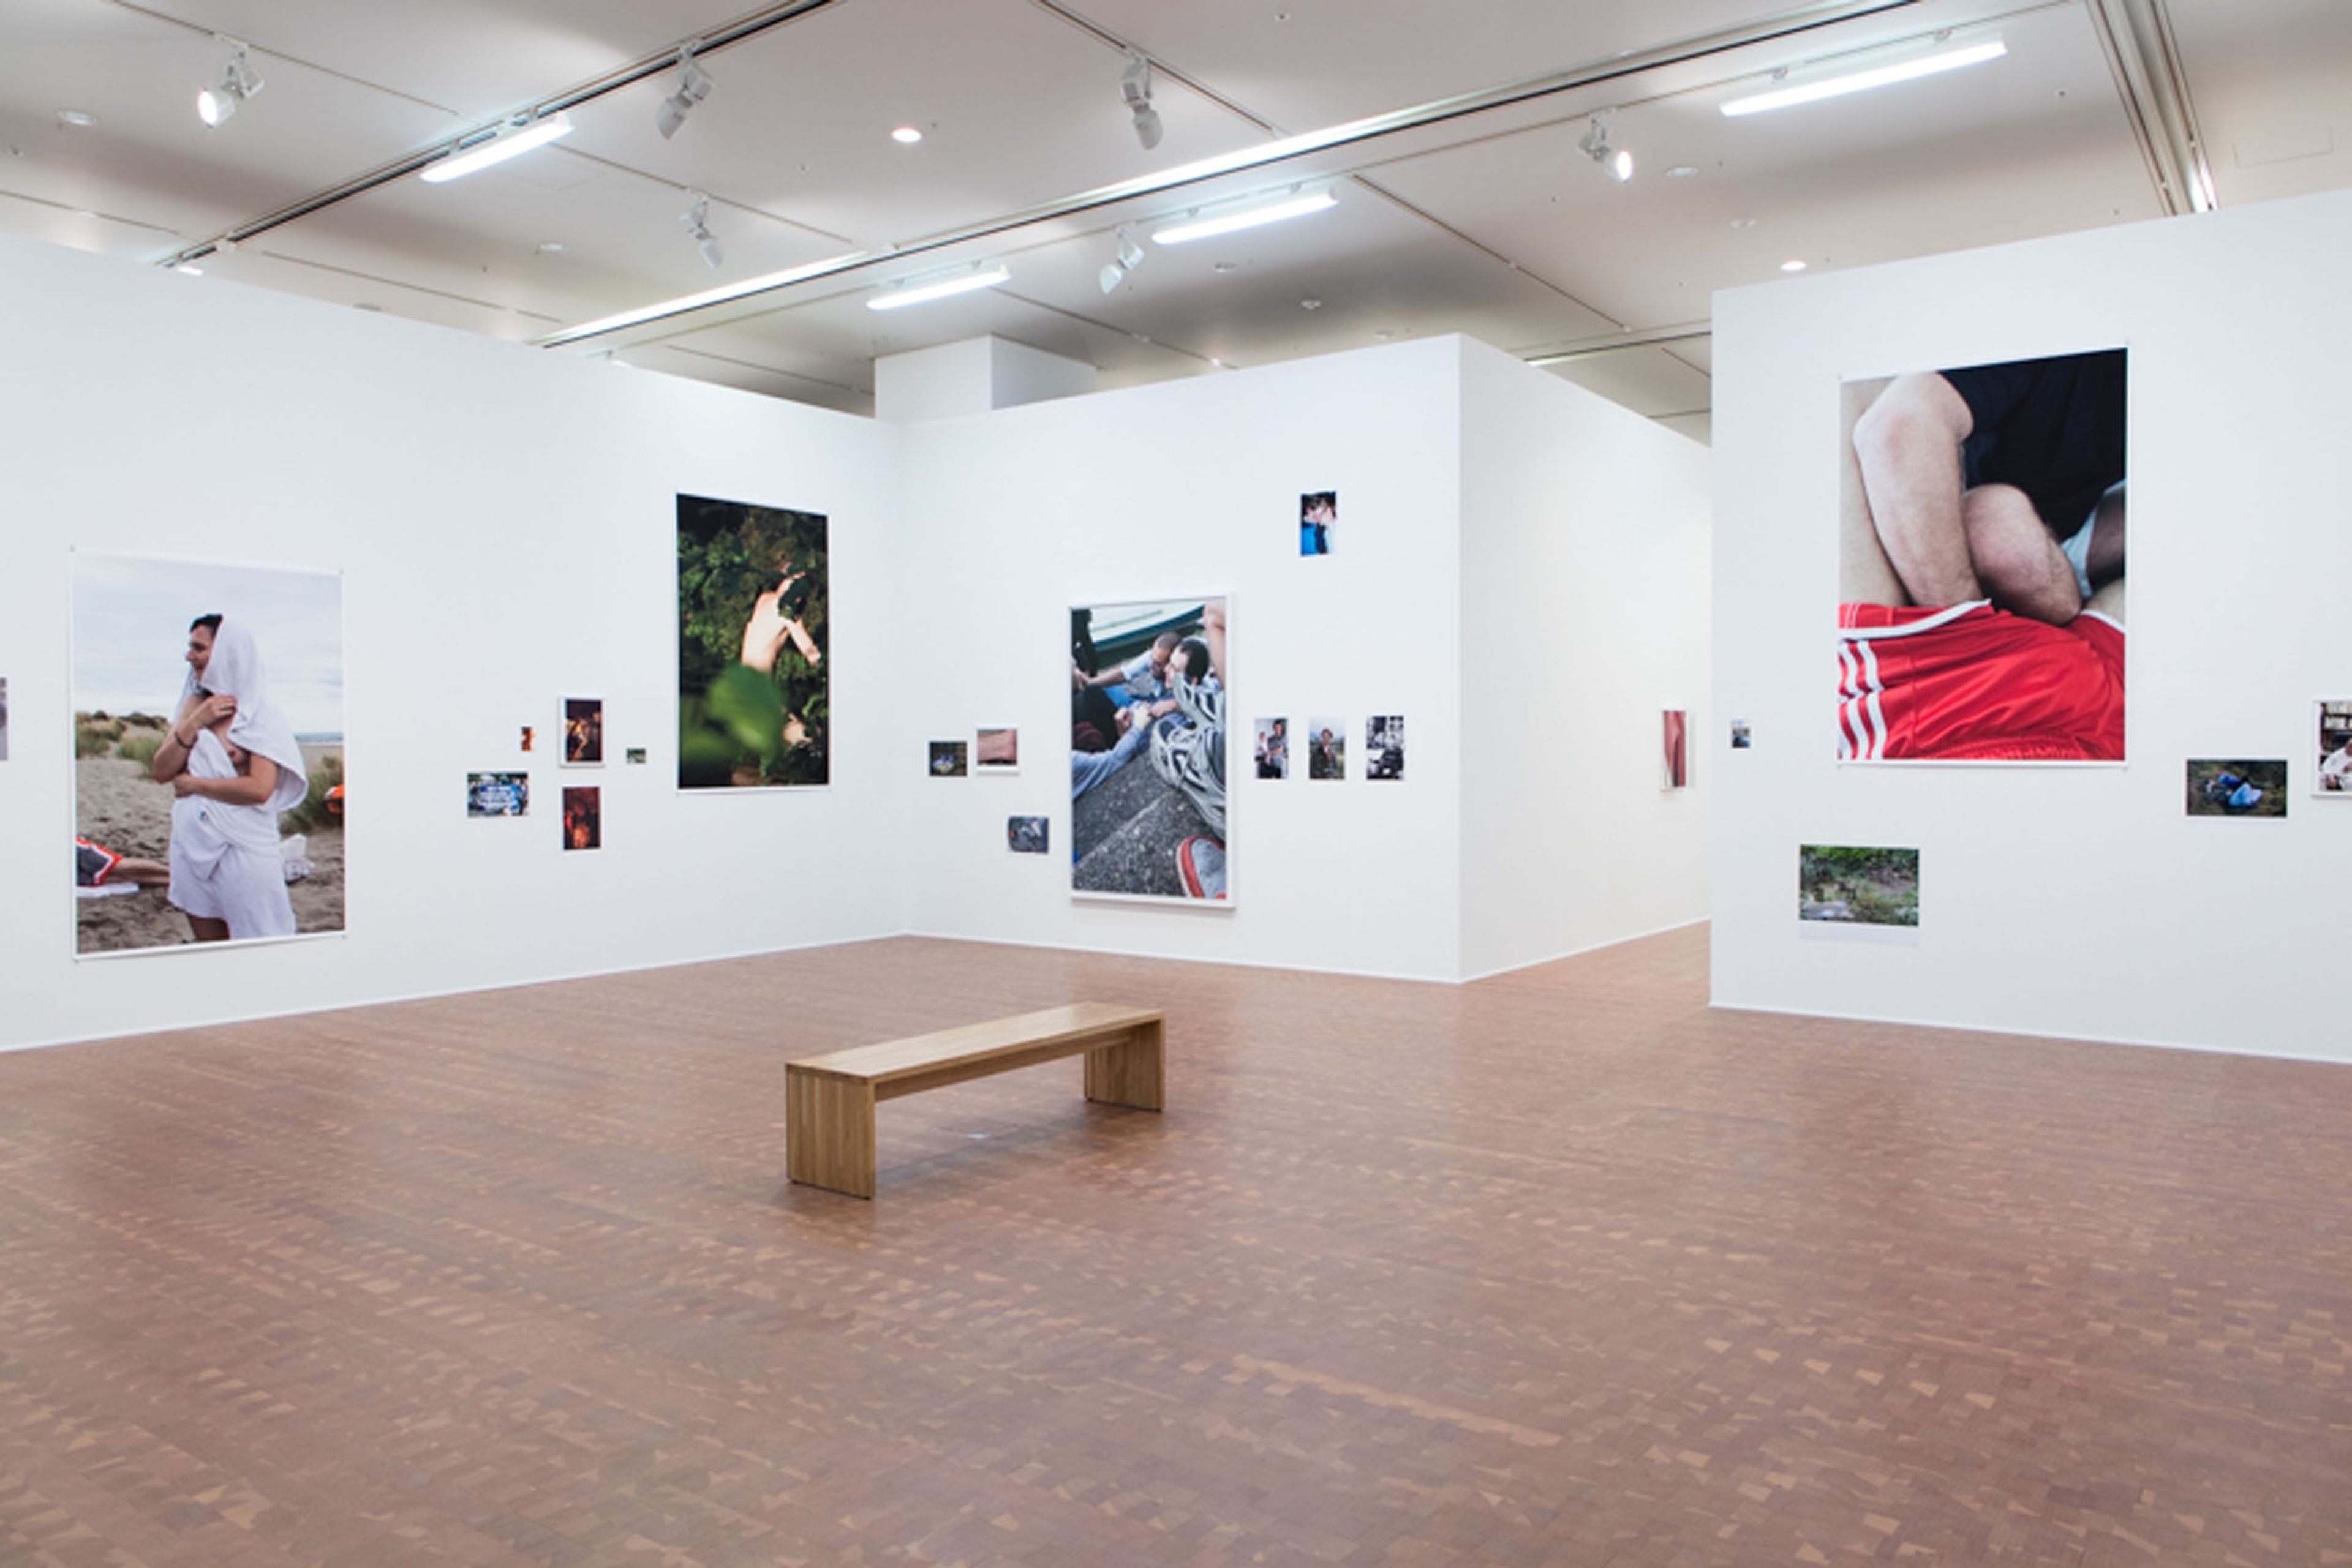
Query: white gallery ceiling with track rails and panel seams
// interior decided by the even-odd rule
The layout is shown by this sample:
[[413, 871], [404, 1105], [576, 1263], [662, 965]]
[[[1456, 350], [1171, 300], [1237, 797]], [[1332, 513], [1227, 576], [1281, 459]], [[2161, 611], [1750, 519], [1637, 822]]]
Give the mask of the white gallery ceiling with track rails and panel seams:
[[[2345, 0], [746, 2], [7, 0], [0, 233], [851, 411], [877, 355], [978, 334], [1131, 386], [1465, 331], [1705, 435], [1715, 289], [2352, 183]], [[661, 136], [680, 45], [729, 31]], [[1719, 113], [1992, 35], [1990, 63]], [[261, 89], [207, 127], [230, 40]], [[553, 146], [402, 172], [569, 99]], [[1578, 150], [1595, 110], [1628, 183]], [[1336, 205], [1150, 240], [1294, 188]], [[1122, 228], [1143, 261], [1105, 292]], [[866, 308], [983, 263], [1009, 280]]]

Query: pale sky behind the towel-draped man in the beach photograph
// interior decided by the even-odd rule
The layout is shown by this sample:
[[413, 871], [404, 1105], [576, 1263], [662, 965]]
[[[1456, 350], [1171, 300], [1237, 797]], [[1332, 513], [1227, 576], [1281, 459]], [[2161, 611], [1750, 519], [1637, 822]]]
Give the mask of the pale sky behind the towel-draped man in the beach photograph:
[[343, 578], [143, 555], [73, 557], [73, 710], [179, 712], [188, 623], [254, 632], [261, 679], [299, 736], [343, 733]]

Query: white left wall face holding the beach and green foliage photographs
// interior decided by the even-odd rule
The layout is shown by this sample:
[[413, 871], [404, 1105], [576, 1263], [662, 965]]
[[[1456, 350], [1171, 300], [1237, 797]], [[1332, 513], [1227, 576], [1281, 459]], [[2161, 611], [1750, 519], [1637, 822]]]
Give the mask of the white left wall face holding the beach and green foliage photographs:
[[[903, 929], [896, 430], [16, 242], [0, 341], [0, 1046]], [[675, 792], [677, 491], [830, 517], [828, 790]], [[343, 936], [73, 957], [73, 550], [343, 574]], [[555, 766], [567, 693], [609, 766]], [[466, 818], [524, 766], [532, 816]], [[564, 783], [602, 851], [560, 849]]]

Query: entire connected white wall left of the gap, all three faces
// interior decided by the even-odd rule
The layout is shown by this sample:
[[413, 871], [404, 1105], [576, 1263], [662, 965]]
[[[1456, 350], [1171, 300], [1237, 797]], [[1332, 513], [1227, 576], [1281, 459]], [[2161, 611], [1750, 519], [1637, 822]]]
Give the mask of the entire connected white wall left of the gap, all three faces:
[[[1705, 456], [1477, 343], [889, 425], [31, 244], [0, 334], [0, 1048], [901, 931], [1458, 980], [1703, 903], [1656, 708], [1700, 708]], [[1334, 552], [1301, 557], [1324, 489]], [[828, 515], [830, 788], [675, 790], [682, 491]], [[75, 957], [75, 552], [341, 574], [343, 933]], [[1618, 571], [1644, 588], [1602, 609]], [[1188, 592], [1232, 602], [1235, 907], [1073, 900], [1068, 611]], [[1585, 630], [1522, 668], [1559, 604]], [[1470, 736], [1503, 691], [1543, 717]], [[560, 766], [564, 696], [604, 698], [604, 769]], [[1623, 799], [1548, 778], [1588, 703]], [[1402, 780], [1367, 778], [1371, 715], [1406, 719]], [[1305, 778], [1322, 717], [1341, 783]], [[929, 778], [981, 724], [1021, 771]], [[529, 771], [532, 816], [468, 818], [470, 771]], [[600, 851], [560, 846], [576, 783]], [[1014, 813], [1054, 853], [1011, 856]]]

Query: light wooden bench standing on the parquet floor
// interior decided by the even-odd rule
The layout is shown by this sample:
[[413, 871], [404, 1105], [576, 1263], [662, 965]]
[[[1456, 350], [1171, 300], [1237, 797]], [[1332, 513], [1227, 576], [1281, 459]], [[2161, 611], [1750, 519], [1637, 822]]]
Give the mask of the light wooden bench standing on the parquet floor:
[[887, 1039], [783, 1067], [783, 1164], [795, 1182], [875, 1194], [875, 1103], [1087, 1053], [1087, 1098], [1136, 1110], [1167, 1100], [1157, 1011], [1075, 1001], [1042, 1013]]

